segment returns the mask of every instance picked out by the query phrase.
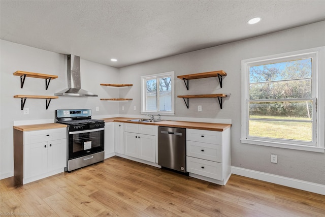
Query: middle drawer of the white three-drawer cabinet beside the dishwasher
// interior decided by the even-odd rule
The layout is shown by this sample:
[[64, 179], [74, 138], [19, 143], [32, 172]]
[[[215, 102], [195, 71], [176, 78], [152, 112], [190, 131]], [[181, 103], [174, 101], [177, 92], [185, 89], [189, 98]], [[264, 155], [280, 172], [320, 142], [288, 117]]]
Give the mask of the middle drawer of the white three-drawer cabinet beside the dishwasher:
[[186, 156], [222, 163], [222, 146], [202, 142], [186, 142]]

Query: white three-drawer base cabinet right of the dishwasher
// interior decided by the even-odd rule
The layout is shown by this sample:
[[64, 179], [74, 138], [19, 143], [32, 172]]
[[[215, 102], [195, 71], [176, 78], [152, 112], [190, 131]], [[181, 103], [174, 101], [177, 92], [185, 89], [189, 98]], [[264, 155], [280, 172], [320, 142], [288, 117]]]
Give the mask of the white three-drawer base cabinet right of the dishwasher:
[[225, 185], [231, 171], [230, 128], [222, 132], [186, 129], [189, 176]]

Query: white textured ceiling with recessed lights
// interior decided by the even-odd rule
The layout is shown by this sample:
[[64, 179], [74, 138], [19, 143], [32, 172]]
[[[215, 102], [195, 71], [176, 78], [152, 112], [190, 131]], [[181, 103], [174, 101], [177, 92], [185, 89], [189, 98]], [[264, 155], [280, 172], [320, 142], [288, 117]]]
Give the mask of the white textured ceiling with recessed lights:
[[1, 0], [0, 9], [1, 39], [117, 68], [325, 20], [325, 1]]

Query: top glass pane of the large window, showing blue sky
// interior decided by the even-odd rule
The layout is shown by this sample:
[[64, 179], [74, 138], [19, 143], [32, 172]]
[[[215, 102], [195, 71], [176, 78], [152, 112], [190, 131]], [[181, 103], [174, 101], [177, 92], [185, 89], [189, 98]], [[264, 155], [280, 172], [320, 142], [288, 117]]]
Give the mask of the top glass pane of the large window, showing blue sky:
[[311, 58], [249, 68], [249, 82], [268, 82], [311, 78]]

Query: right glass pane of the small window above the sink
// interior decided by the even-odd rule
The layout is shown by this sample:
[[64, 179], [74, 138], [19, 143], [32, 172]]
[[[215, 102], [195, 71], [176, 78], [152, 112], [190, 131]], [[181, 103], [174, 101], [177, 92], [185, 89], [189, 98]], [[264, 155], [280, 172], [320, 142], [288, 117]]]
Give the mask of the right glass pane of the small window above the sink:
[[171, 77], [159, 78], [159, 109], [158, 111], [172, 111]]

